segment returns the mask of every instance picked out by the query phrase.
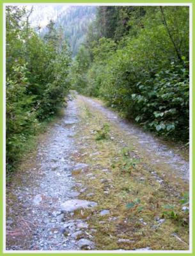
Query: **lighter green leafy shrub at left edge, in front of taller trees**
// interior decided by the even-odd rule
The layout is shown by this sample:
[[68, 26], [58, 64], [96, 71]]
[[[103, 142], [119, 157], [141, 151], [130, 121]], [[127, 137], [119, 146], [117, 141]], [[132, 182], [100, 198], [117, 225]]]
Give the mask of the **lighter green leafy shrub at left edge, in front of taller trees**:
[[6, 159], [10, 170], [24, 152], [30, 134], [38, 129], [38, 120], [33, 109], [34, 97], [27, 94], [29, 81], [26, 67], [13, 67], [12, 79], [6, 81]]

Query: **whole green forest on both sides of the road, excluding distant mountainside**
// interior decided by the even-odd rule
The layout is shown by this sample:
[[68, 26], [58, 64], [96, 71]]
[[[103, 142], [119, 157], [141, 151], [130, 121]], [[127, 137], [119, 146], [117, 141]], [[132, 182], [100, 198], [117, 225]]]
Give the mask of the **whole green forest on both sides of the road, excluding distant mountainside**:
[[99, 6], [74, 58], [63, 26], [51, 20], [42, 36], [29, 24], [31, 12], [6, 7], [8, 170], [64, 106], [70, 88], [188, 144], [189, 7]]

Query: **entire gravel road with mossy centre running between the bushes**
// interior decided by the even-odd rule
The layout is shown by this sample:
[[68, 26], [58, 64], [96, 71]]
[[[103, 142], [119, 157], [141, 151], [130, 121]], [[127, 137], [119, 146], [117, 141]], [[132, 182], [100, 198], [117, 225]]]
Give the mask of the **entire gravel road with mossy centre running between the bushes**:
[[188, 250], [180, 148], [77, 95], [6, 189], [6, 250]]

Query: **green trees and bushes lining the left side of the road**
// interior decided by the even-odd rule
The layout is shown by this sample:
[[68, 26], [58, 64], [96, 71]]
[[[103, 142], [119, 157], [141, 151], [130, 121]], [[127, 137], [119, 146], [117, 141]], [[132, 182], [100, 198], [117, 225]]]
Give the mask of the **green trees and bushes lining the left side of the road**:
[[47, 25], [41, 38], [29, 26], [31, 11], [6, 7], [6, 163], [12, 170], [31, 136], [65, 102], [71, 54], [63, 33]]

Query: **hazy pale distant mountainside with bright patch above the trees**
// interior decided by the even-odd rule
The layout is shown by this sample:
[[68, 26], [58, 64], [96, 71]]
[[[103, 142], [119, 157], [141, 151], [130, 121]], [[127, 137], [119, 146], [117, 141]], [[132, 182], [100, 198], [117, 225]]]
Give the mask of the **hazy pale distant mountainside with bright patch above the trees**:
[[[96, 6], [68, 6], [65, 4], [33, 5], [33, 12], [29, 17], [31, 26], [40, 33], [47, 33], [47, 24], [52, 20], [55, 28], [63, 28], [63, 35], [70, 46], [72, 56], [86, 39], [88, 26], [95, 19]], [[31, 6], [28, 6], [29, 10]], [[44, 13], [44, 14], [43, 14]]]

